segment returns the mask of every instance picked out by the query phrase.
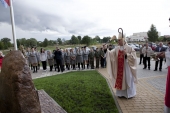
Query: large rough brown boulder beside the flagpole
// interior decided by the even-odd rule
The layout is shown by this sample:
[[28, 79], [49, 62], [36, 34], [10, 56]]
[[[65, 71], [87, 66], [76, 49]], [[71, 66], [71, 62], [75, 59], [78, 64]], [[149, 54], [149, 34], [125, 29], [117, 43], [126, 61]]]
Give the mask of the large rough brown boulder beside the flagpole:
[[0, 73], [1, 113], [41, 113], [37, 90], [20, 51], [4, 57]]

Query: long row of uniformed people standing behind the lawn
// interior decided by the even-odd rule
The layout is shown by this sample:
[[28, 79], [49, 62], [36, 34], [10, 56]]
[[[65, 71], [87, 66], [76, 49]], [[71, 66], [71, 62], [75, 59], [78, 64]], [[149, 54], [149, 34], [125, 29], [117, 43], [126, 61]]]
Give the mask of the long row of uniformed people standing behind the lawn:
[[[77, 68], [79, 70], [105, 68], [107, 49], [111, 50], [112, 46], [105, 44], [101, 48], [96, 48], [96, 50], [93, 48], [87, 50], [86, 46], [71, 49], [56, 47], [56, 50], [53, 51], [45, 50], [44, 48], [38, 51], [36, 47], [28, 47], [24, 55], [33, 73], [38, 72], [40, 64], [42, 64], [44, 71], [47, 71], [47, 66], [49, 66], [49, 71], [63, 72], [71, 69], [76, 70]], [[95, 66], [94, 63], [96, 63]]]

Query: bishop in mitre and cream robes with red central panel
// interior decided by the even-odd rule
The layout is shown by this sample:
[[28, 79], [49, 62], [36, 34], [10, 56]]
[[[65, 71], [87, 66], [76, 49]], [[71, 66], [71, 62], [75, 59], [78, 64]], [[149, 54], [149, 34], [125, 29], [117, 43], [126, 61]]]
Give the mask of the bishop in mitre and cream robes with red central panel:
[[107, 72], [112, 87], [116, 89], [116, 96], [132, 98], [136, 95], [136, 51], [127, 44], [124, 35], [119, 33], [117, 40], [118, 46], [107, 50]]

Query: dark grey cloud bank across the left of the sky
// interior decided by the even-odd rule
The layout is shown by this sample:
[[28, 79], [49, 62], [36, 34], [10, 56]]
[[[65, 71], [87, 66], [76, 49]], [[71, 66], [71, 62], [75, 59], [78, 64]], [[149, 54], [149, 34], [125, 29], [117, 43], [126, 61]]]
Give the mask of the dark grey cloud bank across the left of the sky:
[[[4, 8], [0, 5], [0, 12], [0, 22], [10, 24], [9, 8]], [[58, 14], [48, 14], [16, 2], [14, 3], [14, 15], [16, 26], [25, 31], [52, 30], [59, 33], [77, 34], [95, 26], [93, 22], [66, 19]]]

